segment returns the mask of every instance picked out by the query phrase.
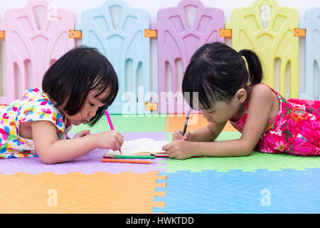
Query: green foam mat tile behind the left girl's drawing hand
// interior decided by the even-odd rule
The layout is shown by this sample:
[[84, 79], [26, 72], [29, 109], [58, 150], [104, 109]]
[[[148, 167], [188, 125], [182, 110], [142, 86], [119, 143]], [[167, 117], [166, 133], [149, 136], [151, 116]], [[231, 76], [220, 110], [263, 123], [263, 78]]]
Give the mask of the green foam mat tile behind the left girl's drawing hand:
[[[110, 115], [112, 125], [115, 130], [122, 132], [162, 132], [164, 131], [164, 123], [166, 114], [149, 114], [149, 115]], [[92, 133], [101, 133], [110, 130], [107, 118], [102, 118], [92, 127], [87, 124], [73, 126], [70, 133], [78, 133], [81, 130], [90, 129]]]

